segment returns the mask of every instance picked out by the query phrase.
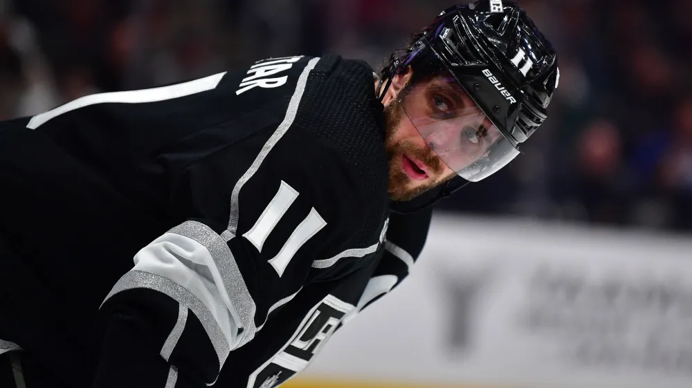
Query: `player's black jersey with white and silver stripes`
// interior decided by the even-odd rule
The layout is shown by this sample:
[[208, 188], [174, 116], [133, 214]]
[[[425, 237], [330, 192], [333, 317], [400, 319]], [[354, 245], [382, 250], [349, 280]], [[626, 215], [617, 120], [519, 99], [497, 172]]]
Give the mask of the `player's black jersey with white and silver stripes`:
[[283, 382], [412, 264], [382, 108], [289, 57], [1, 124], [0, 344], [69, 387]]

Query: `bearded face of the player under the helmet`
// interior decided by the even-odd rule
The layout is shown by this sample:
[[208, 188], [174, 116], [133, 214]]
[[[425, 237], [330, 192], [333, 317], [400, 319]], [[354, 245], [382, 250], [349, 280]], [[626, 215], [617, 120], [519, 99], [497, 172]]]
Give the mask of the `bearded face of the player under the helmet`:
[[395, 76], [383, 101], [389, 193], [397, 201], [411, 200], [450, 180], [455, 170], [483, 157], [501, 136], [471, 98], [446, 78], [403, 88], [410, 75]]

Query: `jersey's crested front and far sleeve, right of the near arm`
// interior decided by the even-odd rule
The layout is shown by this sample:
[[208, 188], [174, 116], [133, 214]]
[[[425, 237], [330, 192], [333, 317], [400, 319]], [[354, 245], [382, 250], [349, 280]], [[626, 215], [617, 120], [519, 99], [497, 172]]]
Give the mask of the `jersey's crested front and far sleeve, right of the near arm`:
[[430, 209], [393, 213], [383, 249], [367, 266], [345, 278], [307, 285], [253, 341], [230, 353], [218, 386], [275, 387], [307, 367], [335, 331], [408, 276], [426, 242], [431, 214]]

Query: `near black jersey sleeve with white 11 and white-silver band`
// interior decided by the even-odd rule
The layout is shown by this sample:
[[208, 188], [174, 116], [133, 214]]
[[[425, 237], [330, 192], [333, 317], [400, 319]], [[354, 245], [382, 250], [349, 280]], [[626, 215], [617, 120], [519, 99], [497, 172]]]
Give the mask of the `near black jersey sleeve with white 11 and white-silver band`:
[[329, 272], [323, 263], [361, 248], [351, 244], [363, 198], [338, 153], [298, 127], [278, 141], [275, 128], [259, 133], [262, 142], [248, 138], [172, 171], [178, 226], [139, 251], [106, 298], [96, 387], [124, 378], [212, 384], [230, 351]]

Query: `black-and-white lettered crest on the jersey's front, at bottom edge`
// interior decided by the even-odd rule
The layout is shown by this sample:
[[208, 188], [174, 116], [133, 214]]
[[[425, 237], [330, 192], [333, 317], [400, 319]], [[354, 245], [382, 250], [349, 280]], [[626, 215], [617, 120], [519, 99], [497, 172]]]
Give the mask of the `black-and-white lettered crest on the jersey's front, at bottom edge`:
[[356, 307], [353, 304], [343, 302], [334, 295], [327, 295], [305, 317], [291, 342], [250, 376], [247, 388], [277, 387], [305, 369], [334, 334], [343, 318], [354, 309]]

